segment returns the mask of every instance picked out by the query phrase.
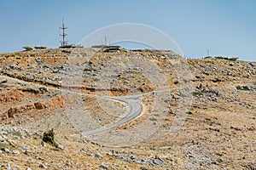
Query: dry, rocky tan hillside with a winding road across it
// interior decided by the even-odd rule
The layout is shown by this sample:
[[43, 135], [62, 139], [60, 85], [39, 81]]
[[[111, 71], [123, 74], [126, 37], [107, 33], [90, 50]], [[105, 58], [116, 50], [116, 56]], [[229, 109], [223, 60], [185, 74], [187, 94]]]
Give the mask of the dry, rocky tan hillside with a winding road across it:
[[124, 48], [0, 54], [0, 124], [0, 169], [252, 170], [256, 66]]

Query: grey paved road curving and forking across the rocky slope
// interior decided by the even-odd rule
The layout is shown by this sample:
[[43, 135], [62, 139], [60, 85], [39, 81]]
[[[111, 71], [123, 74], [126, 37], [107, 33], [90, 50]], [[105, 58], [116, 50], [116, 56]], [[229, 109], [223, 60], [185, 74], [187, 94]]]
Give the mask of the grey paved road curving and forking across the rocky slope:
[[[47, 87], [44, 85], [38, 85], [37, 83], [33, 83], [33, 82], [25, 82], [23, 80], [16, 79], [13, 77], [0, 76], [0, 78], [4, 78], [4, 79], [15, 81], [15, 82], [20, 82], [23, 84], [34, 85], [37, 87], [54, 89], [54, 90], [61, 91], [61, 93], [87, 95], [87, 96], [93, 96], [93, 97], [103, 98], [103, 99], [113, 99], [113, 100], [117, 100], [119, 102], [123, 102], [126, 105], [129, 105], [129, 111], [127, 111], [127, 114], [125, 115], [125, 117], [122, 118], [121, 120], [119, 120], [118, 122], [114, 122], [113, 124], [109, 125], [108, 127], [100, 127], [95, 130], [91, 130], [89, 132], [80, 133], [78, 135], [75, 135], [75, 137], [84, 137], [84, 136], [89, 136], [89, 135], [93, 135], [96, 133], [106, 132], [108, 130], [113, 129], [114, 127], [119, 127], [120, 125], [123, 125], [126, 122], [130, 122], [131, 120], [135, 119], [137, 116], [139, 116], [143, 112], [143, 105], [142, 105], [141, 101], [139, 100], [139, 98], [146, 94], [137, 94], [137, 95], [120, 96], [120, 97], [109, 97], [109, 96], [101, 96], [101, 95], [94, 95], [94, 94], [84, 94], [84, 93], [74, 92], [74, 91], [67, 90], [67, 89]], [[149, 94], [152, 94], [152, 93], [149, 93]]]

